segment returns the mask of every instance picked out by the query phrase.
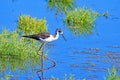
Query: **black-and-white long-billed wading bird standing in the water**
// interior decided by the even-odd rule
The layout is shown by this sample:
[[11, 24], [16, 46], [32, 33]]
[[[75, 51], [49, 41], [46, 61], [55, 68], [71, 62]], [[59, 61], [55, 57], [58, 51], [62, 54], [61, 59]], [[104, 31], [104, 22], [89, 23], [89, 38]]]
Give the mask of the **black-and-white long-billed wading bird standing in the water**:
[[61, 34], [63, 39], [66, 41], [61, 28], [57, 28], [55, 34], [40, 33], [40, 34], [33, 34], [33, 35], [28, 35], [28, 36], [24, 35], [23, 37], [32, 38], [32, 39], [42, 42], [42, 45], [39, 48], [39, 50], [41, 50], [41, 48], [44, 46], [45, 43], [57, 40], [59, 38], [59, 34]]

